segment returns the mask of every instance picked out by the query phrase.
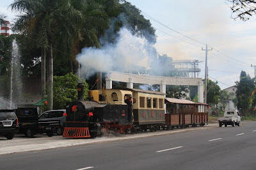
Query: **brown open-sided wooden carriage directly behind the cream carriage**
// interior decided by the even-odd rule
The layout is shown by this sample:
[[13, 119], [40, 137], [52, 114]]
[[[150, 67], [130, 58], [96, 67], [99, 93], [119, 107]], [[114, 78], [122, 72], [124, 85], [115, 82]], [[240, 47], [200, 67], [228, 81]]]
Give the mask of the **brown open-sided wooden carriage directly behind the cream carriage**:
[[169, 127], [188, 127], [193, 125], [193, 114], [196, 112], [194, 102], [177, 98], [165, 98], [165, 124]]

